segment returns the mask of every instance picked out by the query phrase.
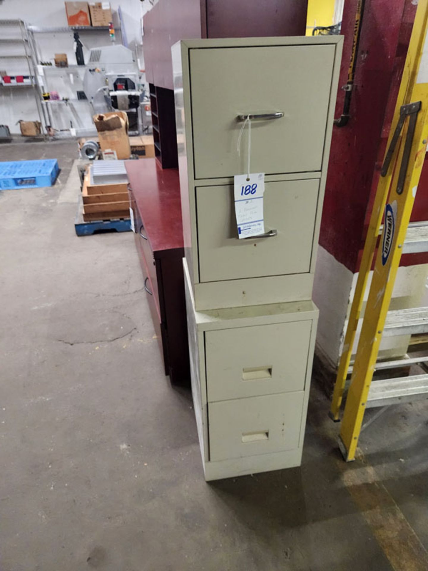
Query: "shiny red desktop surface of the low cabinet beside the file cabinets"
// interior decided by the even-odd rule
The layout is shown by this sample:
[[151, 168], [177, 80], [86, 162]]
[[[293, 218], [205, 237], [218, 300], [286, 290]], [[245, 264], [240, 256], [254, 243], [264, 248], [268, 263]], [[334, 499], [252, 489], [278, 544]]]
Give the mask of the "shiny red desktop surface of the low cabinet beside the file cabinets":
[[161, 168], [156, 159], [125, 165], [152, 251], [183, 248], [178, 168]]

